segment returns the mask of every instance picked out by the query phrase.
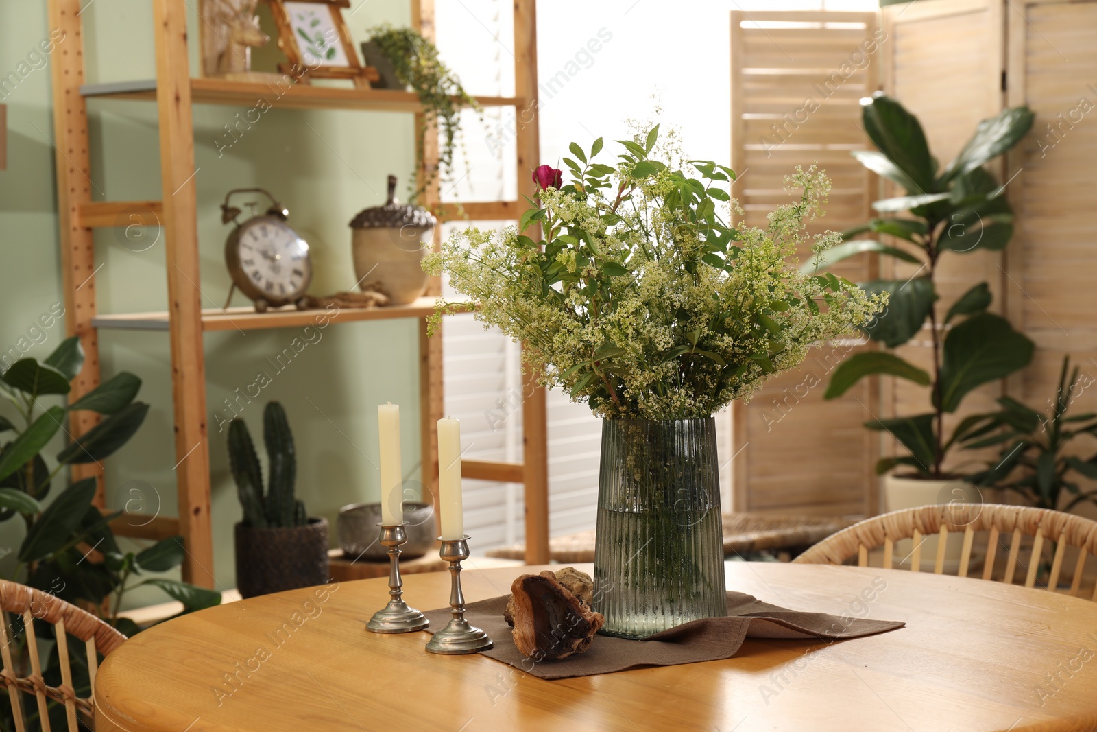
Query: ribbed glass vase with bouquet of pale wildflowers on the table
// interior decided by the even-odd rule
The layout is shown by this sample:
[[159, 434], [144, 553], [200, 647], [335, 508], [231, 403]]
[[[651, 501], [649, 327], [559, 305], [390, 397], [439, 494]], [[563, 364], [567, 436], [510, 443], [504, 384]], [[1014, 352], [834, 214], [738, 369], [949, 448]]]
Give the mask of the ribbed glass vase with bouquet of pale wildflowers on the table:
[[886, 301], [789, 263], [837, 239], [804, 233], [829, 190], [817, 170], [789, 178], [795, 200], [767, 228], [733, 228], [735, 173], [658, 133], [618, 140], [615, 165], [601, 138], [573, 143], [570, 181], [539, 167], [517, 228], [462, 230], [425, 260], [522, 341], [540, 383], [603, 418], [596, 609], [625, 638], [726, 613], [712, 415]]

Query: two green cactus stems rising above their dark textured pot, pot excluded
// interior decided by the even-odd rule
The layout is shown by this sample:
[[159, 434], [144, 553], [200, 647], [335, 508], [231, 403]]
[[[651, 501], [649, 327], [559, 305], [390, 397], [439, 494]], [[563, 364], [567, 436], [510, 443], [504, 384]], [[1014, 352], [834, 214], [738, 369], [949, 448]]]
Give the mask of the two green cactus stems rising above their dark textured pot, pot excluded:
[[228, 426], [228, 462], [244, 507], [244, 523], [253, 529], [304, 526], [305, 504], [294, 496], [297, 459], [285, 410], [270, 402], [263, 410], [263, 443], [270, 468], [270, 483], [263, 495], [263, 474], [251, 433], [242, 419]]

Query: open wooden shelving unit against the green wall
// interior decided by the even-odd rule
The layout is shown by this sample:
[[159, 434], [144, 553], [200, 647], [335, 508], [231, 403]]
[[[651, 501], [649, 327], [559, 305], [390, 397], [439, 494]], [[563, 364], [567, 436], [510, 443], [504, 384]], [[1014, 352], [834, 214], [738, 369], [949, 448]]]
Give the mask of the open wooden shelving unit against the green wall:
[[[362, 110], [378, 113], [421, 113], [411, 92], [374, 89], [339, 89], [297, 85], [258, 85], [214, 78], [192, 78], [186, 38], [186, 0], [150, 0], [156, 37], [156, 79], [123, 83], [84, 85], [83, 42], [80, 0], [49, 0], [50, 27], [66, 34], [53, 64], [54, 135], [58, 155], [57, 193], [60, 217], [61, 268], [66, 329], [78, 335], [87, 360], [78, 374], [71, 399], [77, 399], [100, 382], [98, 331], [100, 328], [161, 330], [171, 345], [172, 405], [178, 518], [159, 517], [140, 528], [122, 517], [115, 531], [124, 536], [156, 539], [182, 534], [186, 547], [183, 577], [212, 587], [213, 537], [210, 517], [210, 450], [206, 433], [205, 354], [203, 334], [213, 330], [284, 328], [313, 323], [323, 311], [279, 309], [255, 313], [250, 308], [203, 309], [199, 285], [199, 236], [194, 180], [194, 104], [253, 106], [258, 99], [276, 98], [287, 109]], [[412, 19], [427, 37], [434, 36], [433, 0], [411, 0]], [[538, 109], [536, 3], [514, 2], [514, 97], [477, 98], [484, 106]], [[88, 99], [148, 100], [157, 105], [160, 133], [161, 190], [171, 191], [163, 201], [92, 201], [88, 137]], [[535, 191], [529, 171], [536, 167], [539, 145], [534, 117], [517, 132], [518, 201], [486, 201], [464, 204], [472, 219], [513, 219], [520, 213], [521, 195]], [[420, 166], [438, 165], [437, 135], [428, 132], [425, 159]], [[437, 183], [426, 203], [439, 204]], [[95, 262], [92, 230], [132, 224], [137, 212], [143, 223], [163, 229], [168, 308], [160, 313], [99, 314], [95, 300]], [[126, 216], [123, 217], [122, 214]], [[439, 233], [436, 229], [436, 236]], [[436, 246], [438, 241], [436, 240]], [[420, 430], [423, 446], [422, 482], [437, 494], [438, 436], [434, 425], [442, 416], [442, 339], [428, 336], [426, 317], [440, 291], [431, 282], [427, 296], [416, 303], [367, 311], [342, 309], [332, 323], [415, 318], [419, 322]], [[547, 446], [544, 391], [527, 383], [523, 403], [524, 462], [466, 461], [463, 473], [471, 478], [521, 482], [525, 486], [527, 560], [548, 561]], [[79, 436], [94, 426], [92, 413], [71, 417], [69, 432]], [[103, 483], [98, 465], [73, 468], [75, 477], [98, 475], [98, 503], [104, 506]]]

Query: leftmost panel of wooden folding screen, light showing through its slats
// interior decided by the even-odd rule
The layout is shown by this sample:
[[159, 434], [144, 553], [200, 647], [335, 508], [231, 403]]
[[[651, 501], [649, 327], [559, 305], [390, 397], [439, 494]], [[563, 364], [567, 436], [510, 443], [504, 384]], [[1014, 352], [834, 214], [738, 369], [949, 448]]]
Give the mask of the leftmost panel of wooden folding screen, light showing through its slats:
[[[869, 173], [851, 156], [867, 140], [858, 100], [877, 89], [875, 13], [732, 12], [733, 195], [745, 223], [790, 200], [783, 178], [818, 162], [830, 176], [827, 215], [815, 230], [842, 230], [869, 216]], [[806, 252], [801, 252], [804, 258]], [[868, 257], [835, 272], [875, 275]], [[748, 404], [736, 404], [732, 463], [737, 510], [798, 514], [874, 513], [874, 440], [861, 427], [875, 398], [866, 381], [823, 402], [829, 373], [850, 345], [815, 351]]]

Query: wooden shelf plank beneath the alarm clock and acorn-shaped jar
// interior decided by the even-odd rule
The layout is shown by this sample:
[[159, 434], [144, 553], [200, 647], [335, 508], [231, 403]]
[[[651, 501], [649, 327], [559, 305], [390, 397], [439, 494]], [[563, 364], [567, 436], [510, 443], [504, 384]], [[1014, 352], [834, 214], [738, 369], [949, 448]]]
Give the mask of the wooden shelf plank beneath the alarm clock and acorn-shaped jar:
[[[452, 302], [452, 301], [451, 301]], [[467, 306], [466, 306], [467, 307]], [[338, 311], [298, 311], [293, 306], [257, 313], [251, 307], [229, 307], [224, 311], [205, 308], [202, 311], [203, 330], [259, 330], [263, 328], [297, 328], [320, 325], [320, 319], [330, 323], [353, 323], [358, 320], [393, 320], [397, 318], [423, 318], [434, 312], [433, 297], [419, 297], [410, 305], [388, 307], [349, 308]], [[95, 328], [115, 330], [167, 330], [168, 313], [121, 313], [98, 315], [92, 318]], [[328, 324], [324, 324], [327, 326]]]

